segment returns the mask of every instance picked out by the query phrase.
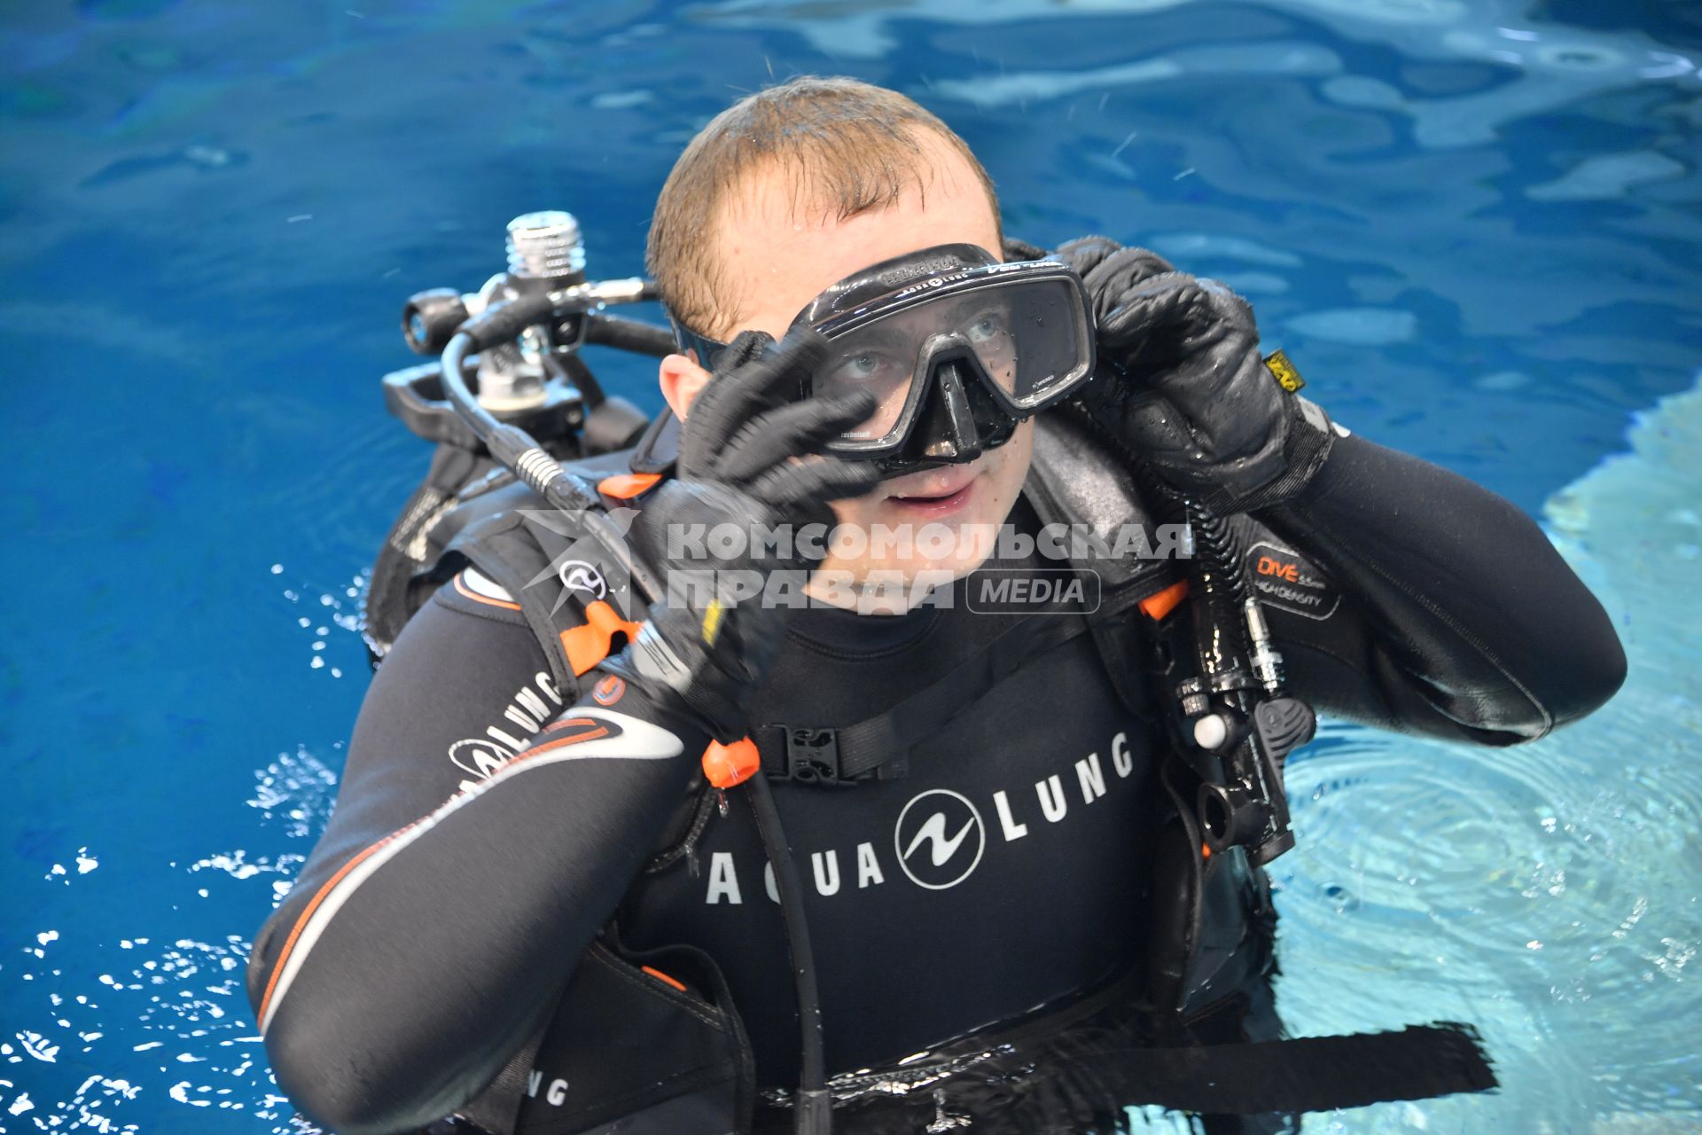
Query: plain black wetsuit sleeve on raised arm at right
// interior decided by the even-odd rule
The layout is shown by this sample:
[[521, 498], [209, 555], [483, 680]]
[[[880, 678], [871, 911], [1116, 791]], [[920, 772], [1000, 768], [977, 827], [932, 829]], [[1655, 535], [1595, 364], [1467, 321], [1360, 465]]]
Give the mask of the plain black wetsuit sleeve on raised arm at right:
[[[1625, 681], [1590, 589], [1523, 510], [1464, 476], [1338, 437], [1297, 497], [1254, 516], [1353, 601], [1326, 618], [1285, 609], [1282, 592], [1266, 602], [1290, 686], [1319, 708], [1508, 745], [1585, 716]], [[1265, 570], [1256, 551], [1249, 565], [1254, 579]]]

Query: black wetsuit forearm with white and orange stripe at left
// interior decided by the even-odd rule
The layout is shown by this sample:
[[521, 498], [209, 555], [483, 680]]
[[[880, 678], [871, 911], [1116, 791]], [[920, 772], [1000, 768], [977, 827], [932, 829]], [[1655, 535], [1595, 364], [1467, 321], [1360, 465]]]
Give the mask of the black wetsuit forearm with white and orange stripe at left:
[[565, 710], [267, 924], [248, 994], [277, 1084], [306, 1116], [339, 1135], [437, 1120], [553, 1004], [706, 744], [637, 686], [608, 689], [618, 710]]

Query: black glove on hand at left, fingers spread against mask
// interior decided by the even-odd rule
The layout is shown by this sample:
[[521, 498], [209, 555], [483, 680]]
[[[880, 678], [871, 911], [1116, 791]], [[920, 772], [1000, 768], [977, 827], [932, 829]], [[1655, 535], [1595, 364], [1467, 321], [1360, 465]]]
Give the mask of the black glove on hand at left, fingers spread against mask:
[[795, 572], [798, 592], [810, 568], [798, 541], [781, 556], [761, 534], [781, 524], [831, 529], [829, 500], [880, 482], [873, 463], [822, 454], [875, 412], [873, 395], [797, 400], [800, 376], [825, 352], [815, 332], [778, 345], [762, 332], [734, 339], [681, 427], [679, 475], [655, 490], [633, 529], [667, 594], [650, 606], [630, 664], [681, 694], [720, 742], [749, 732], [745, 708], [785, 636], [790, 607], [764, 602], [773, 573]]

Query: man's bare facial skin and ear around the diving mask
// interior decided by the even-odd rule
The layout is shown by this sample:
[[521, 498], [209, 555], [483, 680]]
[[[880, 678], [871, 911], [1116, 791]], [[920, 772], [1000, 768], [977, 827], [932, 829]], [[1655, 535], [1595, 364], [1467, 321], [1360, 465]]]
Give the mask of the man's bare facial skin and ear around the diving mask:
[[[974, 170], [946, 143], [924, 136], [922, 145], [922, 189], [907, 185], [892, 206], [844, 221], [795, 216], [788, 179], [752, 177], [715, 233], [727, 281], [723, 303], [739, 313], [732, 328], [715, 328], [723, 332], [723, 342], [739, 330], [780, 339], [810, 299], [880, 260], [945, 243], [979, 245], [997, 255], [999, 228]], [[662, 393], [681, 417], [708, 379], [684, 356], [662, 361]], [[824, 570], [870, 585], [897, 579], [905, 587], [967, 575], [987, 556], [985, 533], [1002, 524], [1016, 502], [1031, 453], [1028, 420], [1009, 442], [975, 461], [905, 473], [863, 497], [836, 500], [839, 524], [854, 531], [842, 533], [848, 539], [834, 548]], [[888, 533], [897, 538], [883, 538]], [[904, 539], [905, 533], [911, 539]]]

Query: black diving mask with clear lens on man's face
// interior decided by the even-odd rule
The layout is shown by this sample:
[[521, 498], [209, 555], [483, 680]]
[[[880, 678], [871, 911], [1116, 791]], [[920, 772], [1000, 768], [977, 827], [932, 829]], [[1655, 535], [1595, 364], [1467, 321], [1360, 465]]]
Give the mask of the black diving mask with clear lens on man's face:
[[[875, 414], [827, 444], [887, 473], [974, 461], [1093, 374], [1081, 277], [1055, 260], [999, 262], [975, 245], [882, 260], [812, 299], [791, 328], [827, 339], [800, 398], [866, 390]], [[725, 344], [674, 325], [713, 368]]]

